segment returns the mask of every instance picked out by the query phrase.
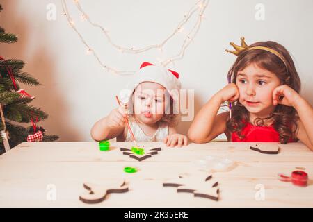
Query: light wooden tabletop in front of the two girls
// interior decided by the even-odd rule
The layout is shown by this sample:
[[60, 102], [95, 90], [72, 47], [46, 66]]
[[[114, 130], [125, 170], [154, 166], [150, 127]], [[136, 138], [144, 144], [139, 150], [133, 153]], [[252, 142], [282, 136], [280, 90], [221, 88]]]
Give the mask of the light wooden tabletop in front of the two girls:
[[[96, 142], [19, 144], [0, 156], [0, 207], [313, 207], [313, 152], [303, 144], [281, 145], [278, 155], [251, 151], [250, 143], [211, 142], [184, 148], [141, 145], [161, 146], [162, 151], [138, 162], [120, 151], [131, 143], [111, 143], [111, 151], [99, 151]], [[231, 171], [213, 173], [219, 182], [219, 201], [163, 187], [164, 180], [179, 173], [209, 175], [192, 164], [207, 155], [236, 162]], [[125, 173], [124, 167], [138, 167], [139, 171]], [[308, 173], [307, 187], [277, 179], [278, 173], [290, 174], [296, 167]], [[79, 200], [83, 182], [113, 178], [125, 178], [129, 192], [109, 194], [94, 205]], [[264, 200], [255, 198], [260, 186], [264, 187]]]

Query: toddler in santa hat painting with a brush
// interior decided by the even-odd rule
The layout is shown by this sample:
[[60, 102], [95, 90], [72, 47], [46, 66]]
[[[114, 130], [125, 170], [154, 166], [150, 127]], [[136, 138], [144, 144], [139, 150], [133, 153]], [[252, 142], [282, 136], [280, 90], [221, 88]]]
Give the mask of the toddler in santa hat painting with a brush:
[[131, 142], [131, 132], [137, 142], [164, 142], [167, 146], [187, 145], [187, 137], [178, 134], [175, 126], [179, 110], [179, 89], [177, 72], [144, 62], [129, 84], [127, 112], [115, 108], [95, 123], [91, 136], [97, 141], [117, 138], [117, 141]]

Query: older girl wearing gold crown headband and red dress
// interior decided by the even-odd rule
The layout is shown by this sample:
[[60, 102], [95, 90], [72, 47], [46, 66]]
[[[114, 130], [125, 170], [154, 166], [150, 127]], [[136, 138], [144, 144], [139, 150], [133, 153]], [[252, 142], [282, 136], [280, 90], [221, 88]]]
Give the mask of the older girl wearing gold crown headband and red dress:
[[[232, 43], [238, 58], [229, 84], [195, 117], [188, 137], [209, 142], [225, 133], [230, 142], [296, 142], [313, 150], [313, 109], [300, 96], [300, 78], [287, 49], [276, 42]], [[225, 101], [230, 112], [217, 114]]]

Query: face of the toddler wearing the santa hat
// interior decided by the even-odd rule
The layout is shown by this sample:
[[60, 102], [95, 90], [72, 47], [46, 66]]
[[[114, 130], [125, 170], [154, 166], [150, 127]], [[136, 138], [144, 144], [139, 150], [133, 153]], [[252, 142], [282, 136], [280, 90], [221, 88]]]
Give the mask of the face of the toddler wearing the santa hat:
[[132, 96], [136, 119], [149, 125], [160, 121], [165, 112], [165, 92], [158, 83], [139, 84]]

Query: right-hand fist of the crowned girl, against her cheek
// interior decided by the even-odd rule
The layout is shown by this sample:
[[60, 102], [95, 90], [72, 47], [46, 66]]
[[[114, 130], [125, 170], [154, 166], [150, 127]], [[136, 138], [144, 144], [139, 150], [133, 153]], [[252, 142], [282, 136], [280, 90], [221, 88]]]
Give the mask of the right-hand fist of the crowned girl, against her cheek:
[[291, 89], [288, 85], [280, 85], [273, 90], [273, 105], [294, 106], [299, 96], [298, 92]]

